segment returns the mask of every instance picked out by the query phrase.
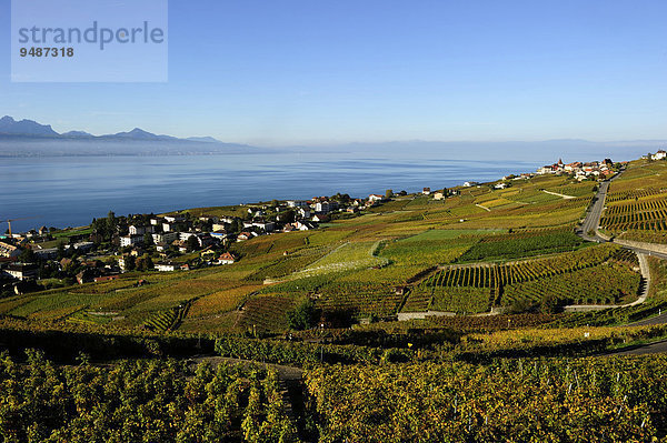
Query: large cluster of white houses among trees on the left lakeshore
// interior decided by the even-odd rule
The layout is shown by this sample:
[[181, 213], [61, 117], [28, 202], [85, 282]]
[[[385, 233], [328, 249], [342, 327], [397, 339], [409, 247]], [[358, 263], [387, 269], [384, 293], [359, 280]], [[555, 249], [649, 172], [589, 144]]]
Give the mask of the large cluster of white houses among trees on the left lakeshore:
[[[341, 199], [316, 197], [311, 200], [288, 200], [273, 204], [249, 205], [247, 215], [218, 217], [189, 214], [130, 215], [115, 219], [111, 236], [103, 238], [99, 232], [69, 238], [69, 243], [60, 248], [43, 248], [53, 240], [50, 230], [42, 226], [21, 234], [0, 239], [0, 280], [28, 282], [38, 279], [39, 265], [21, 263], [19, 255], [30, 249], [36, 263], [49, 262], [62, 275], [68, 274], [79, 283], [113, 280], [121, 272], [148, 268], [170, 272], [190, 270], [191, 264], [173, 262], [175, 255], [198, 252], [197, 265], [226, 265], [238, 258], [231, 252], [220, 252], [220, 246], [242, 242], [258, 235], [278, 232], [308, 231], [319, 223], [330, 221], [332, 213], [357, 213], [386, 200], [385, 195], [371, 194], [368, 199]], [[94, 225], [94, 221], [93, 221]], [[100, 253], [96, 246], [103, 241], [115, 245]], [[113, 252], [115, 249], [118, 252]], [[96, 252], [92, 252], [96, 251]], [[157, 253], [157, 254], [156, 254]], [[101, 254], [100, 260], [90, 260]], [[115, 261], [107, 260], [113, 258]], [[155, 261], [152, 259], [155, 259]], [[141, 263], [141, 268], [139, 266]]]

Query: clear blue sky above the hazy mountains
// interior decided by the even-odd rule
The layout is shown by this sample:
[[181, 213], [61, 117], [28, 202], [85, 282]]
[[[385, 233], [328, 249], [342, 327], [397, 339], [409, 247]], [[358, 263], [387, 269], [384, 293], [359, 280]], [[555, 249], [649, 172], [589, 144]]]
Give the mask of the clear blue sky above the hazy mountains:
[[257, 145], [667, 139], [664, 0], [170, 0], [168, 12], [167, 82], [12, 83], [0, 0], [0, 114]]

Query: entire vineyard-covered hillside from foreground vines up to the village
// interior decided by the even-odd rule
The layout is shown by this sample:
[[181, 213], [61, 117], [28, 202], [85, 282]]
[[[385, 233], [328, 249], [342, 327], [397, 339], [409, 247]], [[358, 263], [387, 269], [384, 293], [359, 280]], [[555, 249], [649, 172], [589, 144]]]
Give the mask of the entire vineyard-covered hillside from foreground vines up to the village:
[[[0, 299], [0, 386], [69, 386], [49, 400], [67, 406], [39, 425], [59, 435], [107, 410], [100, 425], [127, 439], [112, 431], [122, 414], [136, 420], [121, 404], [141, 404], [138, 432], [168, 423], [161, 441], [665, 437], [667, 360], [628, 355], [667, 339], [665, 164], [635, 161], [605, 183], [545, 174], [395, 197], [317, 230], [236, 242], [233, 264]], [[598, 239], [581, 232], [596, 201], [599, 235], [621, 243], [585, 240]], [[36, 346], [46, 356], [26, 360]], [[197, 369], [162, 360], [193, 355]], [[136, 358], [148, 362], [122, 360]], [[68, 393], [83, 380], [99, 386], [94, 402]], [[33, 405], [29, 386], [16, 396]]]

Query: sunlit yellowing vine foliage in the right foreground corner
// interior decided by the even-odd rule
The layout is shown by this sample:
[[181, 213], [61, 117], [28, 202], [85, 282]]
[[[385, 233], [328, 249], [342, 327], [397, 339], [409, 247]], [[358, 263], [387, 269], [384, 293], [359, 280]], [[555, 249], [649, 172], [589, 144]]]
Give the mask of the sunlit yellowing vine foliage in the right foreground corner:
[[[320, 441], [650, 441], [667, 358], [323, 366], [306, 384]], [[536, 413], [539, 411], [539, 413]]]

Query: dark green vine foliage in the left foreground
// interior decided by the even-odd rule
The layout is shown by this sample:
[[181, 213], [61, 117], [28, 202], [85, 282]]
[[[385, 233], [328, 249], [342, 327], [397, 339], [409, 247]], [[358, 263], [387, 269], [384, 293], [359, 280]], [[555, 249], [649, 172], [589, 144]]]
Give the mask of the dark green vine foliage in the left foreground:
[[56, 368], [39, 352], [27, 358], [22, 365], [0, 354], [3, 442], [298, 441], [272, 372], [160, 360]]

